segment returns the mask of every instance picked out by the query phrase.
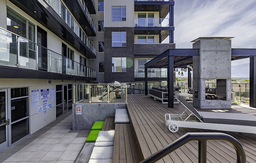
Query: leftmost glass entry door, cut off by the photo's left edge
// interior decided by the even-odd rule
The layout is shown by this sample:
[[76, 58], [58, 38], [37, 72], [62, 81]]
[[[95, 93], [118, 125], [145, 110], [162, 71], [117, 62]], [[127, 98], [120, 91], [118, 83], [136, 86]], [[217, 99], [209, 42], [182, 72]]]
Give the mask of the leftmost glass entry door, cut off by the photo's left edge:
[[0, 152], [8, 147], [7, 90], [0, 89]]

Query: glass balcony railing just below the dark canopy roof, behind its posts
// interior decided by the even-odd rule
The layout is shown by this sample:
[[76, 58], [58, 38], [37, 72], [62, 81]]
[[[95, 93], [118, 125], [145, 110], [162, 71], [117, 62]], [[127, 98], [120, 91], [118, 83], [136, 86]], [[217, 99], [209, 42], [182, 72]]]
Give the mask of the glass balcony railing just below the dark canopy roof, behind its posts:
[[[145, 69], [135, 69], [135, 78], [145, 78]], [[148, 78], [167, 78], [167, 69], [148, 69]]]

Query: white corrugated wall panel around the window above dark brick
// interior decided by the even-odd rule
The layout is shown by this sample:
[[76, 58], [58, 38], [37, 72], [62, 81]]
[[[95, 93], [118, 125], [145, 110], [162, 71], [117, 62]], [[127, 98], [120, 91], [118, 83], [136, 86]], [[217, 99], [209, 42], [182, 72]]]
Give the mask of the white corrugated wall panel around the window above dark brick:
[[[112, 21], [112, 6], [126, 6], [126, 21]], [[104, 27], [134, 27], [134, 0], [104, 0]]]

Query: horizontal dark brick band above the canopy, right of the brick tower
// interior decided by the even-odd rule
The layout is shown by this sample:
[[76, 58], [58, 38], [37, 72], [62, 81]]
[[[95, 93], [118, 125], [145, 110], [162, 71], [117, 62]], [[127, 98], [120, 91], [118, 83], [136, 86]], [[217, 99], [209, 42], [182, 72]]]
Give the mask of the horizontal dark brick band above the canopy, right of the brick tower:
[[[175, 49], [175, 43], [137, 44], [133, 45], [134, 55], [159, 55], [167, 49]], [[136, 56], [135, 56], [136, 57]]]

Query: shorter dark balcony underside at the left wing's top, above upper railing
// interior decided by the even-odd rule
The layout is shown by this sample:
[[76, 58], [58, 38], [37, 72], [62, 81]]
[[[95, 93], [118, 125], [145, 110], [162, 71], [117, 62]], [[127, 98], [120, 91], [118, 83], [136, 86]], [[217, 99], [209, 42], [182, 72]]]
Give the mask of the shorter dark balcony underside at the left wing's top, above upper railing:
[[75, 19], [81, 25], [87, 36], [96, 36], [96, 33], [90, 23], [90, 20], [86, 16], [85, 11], [82, 9], [82, 5], [79, 0], [63, 0], [68, 6], [69, 11], [75, 16]]

